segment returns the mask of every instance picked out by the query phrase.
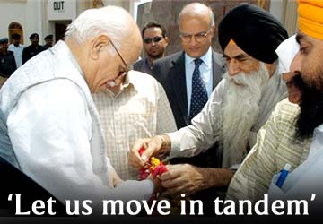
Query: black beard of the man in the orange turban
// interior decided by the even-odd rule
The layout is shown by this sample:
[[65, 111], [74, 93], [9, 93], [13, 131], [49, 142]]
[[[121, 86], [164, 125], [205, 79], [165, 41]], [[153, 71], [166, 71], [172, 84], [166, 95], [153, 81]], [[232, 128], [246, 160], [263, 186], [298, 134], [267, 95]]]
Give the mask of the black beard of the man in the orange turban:
[[[321, 71], [321, 76], [323, 71]], [[301, 79], [301, 73], [293, 77], [293, 82], [301, 90], [301, 112], [296, 118], [296, 139], [302, 141], [312, 136], [314, 129], [323, 124], [323, 90], [317, 90], [319, 82], [306, 83]], [[320, 83], [322, 84], [322, 83]]]

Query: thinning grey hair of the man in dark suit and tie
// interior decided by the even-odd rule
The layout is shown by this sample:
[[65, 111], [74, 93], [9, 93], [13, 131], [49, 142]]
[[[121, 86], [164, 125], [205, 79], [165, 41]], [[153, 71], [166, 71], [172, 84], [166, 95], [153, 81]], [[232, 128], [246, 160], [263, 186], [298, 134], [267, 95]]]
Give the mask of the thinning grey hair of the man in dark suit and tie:
[[[194, 5], [193, 5], [194, 4]], [[205, 4], [200, 4], [200, 3], [193, 3], [193, 4], [187, 4], [183, 7], [183, 9], [179, 13], [179, 18], [178, 18], [178, 25], [180, 25], [180, 18], [183, 15], [189, 15], [191, 17], [196, 16], [197, 14], [200, 14], [200, 9], [205, 7], [208, 9], [208, 13], [210, 16], [210, 29], [215, 25], [215, 20], [214, 20], [214, 13], [212, 9]], [[193, 8], [191, 8], [194, 6]]]

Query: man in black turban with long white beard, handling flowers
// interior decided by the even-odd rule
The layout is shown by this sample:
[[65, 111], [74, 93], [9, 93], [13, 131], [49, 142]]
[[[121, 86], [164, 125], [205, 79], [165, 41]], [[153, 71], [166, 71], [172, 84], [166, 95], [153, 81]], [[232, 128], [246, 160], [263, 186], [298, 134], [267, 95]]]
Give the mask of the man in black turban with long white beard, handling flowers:
[[[129, 162], [144, 166], [152, 155], [191, 157], [220, 144], [219, 168], [188, 164], [168, 166], [160, 179], [173, 196], [187, 196], [210, 187], [229, 185], [235, 165], [253, 146], [258, 129], [275, 104], [286, 97], [275, 48], [288, 37], [274, 16], [253, 4], [240, 4], [223, 17], [219, 40], [228, 73], [213, 91], [192, 125], [177, 132], [138, 140]], [[144, 147], [142, 157], [138, 150]], [[216, 193], [209, 195], [211, 199]]]

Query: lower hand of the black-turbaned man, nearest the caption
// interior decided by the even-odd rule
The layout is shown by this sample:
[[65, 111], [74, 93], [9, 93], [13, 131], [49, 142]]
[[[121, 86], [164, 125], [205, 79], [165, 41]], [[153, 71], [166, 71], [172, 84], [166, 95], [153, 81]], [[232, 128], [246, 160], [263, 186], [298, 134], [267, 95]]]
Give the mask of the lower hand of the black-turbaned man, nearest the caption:
[[204, 177], [200, 168], [189, 164], [167, 165], [168, 171], [160, 177], [162, 186], [165, 187], [166, 193], [172, 198], [179, 198], [180, 194], [186, 196], [202, 190]]

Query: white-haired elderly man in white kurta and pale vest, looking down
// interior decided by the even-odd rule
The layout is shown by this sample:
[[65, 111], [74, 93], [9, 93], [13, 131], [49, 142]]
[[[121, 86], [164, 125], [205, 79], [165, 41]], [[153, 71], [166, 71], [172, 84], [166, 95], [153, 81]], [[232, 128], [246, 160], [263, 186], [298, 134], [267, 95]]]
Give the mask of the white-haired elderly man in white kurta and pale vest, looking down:
[[0, 156], [62, 202], [148, 200], [153, 178], [112, 188], [91, 96], [118, 84], [141, 49], [140, 30], [124, 9], [81, 13], [65, 41], [31, 58], [0, 90]]

